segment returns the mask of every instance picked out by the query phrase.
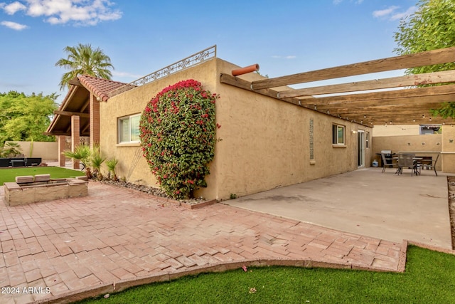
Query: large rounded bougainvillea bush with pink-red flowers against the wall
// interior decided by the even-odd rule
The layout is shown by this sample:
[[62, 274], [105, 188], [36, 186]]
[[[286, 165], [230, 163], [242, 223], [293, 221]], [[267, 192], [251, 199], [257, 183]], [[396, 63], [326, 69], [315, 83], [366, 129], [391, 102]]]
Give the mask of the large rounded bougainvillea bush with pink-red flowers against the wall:
[[139, 124], [144, 157], [161, 189], [188, 199], [207, 187], [208, 163], [215, 155], [215, 99], [193, 79], [162, 90], [146, 105]]

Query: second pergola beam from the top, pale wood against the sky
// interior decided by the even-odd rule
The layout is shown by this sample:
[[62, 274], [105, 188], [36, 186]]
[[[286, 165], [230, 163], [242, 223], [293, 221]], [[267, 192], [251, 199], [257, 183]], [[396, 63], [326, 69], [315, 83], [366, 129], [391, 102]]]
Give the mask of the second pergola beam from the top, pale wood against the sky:
[[385, 88], [400, 88], [415, 85], [427, 85], [436, 83], [455, 83], [455, 70], [447, 70], [437, 73], [424, 73], [406, 75], [400, 77], [359, 81], [355, 83], [342, 83], [339, 85], [323, 85], [314, 88], [285, 90], [279, 92], [279, 98], [323, 95], [333, 93], [348, 93], [363, 90], [378, 90]]

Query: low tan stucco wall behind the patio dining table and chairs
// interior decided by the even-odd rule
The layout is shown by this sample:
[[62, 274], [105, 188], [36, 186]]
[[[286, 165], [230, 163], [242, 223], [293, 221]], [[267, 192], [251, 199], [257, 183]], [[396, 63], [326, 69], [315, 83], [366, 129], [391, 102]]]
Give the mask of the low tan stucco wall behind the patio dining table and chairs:
[[[380, 155], [376, 153], [380, 153], [381, 150], [392, 150], [393, 153], [413, 152], [418, 156], [432, 156], [436, 159], [437, 154], [442, 150], [441, 134], [373, 137], [371, 162], [374, 159], [380, 160]], [[442, 169], [441, 163], [439, 158], [437, 170]]]

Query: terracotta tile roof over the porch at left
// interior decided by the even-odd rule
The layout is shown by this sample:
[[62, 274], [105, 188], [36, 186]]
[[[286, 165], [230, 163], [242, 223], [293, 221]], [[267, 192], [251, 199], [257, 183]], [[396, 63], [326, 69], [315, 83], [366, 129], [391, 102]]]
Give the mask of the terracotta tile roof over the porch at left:
[[128, 83], [119, 83], [118, 81], [96, 78], [87, 75], [79, 75], [77, 78], [79, 79], [80, 83], [85, 86], [85, 88], [92, 91], [92, 93], [102, 101], [107, 101], [109, 97], [116, 95], [112, 94], [114, 90], [123, 88], [122, 90], [118, 90], [118, 93], [122, 93], [126, 90], [131, 90], [132, 88], [136, 87], [135, 85], [129, 85]]

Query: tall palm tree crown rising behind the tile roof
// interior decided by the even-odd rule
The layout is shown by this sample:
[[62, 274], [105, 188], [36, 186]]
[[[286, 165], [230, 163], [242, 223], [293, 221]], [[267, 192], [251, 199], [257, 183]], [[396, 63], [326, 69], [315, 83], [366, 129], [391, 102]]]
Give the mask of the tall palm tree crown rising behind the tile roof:
[[114, 65], [111, 63], [111, 58], [100, 48], [94, 49], [90, 44], [79, 43], [77, 46], [67, 46], [63, 51], [68, 54], [68, 58], [61, 58], [55, 66], [65, 68], [69, 72], [63, 74], [60, 90], [63, 90], [77, 75], [111, 79], [112, 73], [109, 68], [113, 70]]

